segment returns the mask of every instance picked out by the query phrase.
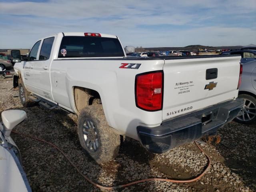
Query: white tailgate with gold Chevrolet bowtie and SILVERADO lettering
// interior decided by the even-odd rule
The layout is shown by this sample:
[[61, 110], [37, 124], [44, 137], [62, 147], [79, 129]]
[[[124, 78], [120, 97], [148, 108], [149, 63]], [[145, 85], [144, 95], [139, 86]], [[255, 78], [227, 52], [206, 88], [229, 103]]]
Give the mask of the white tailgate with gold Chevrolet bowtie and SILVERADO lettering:
[[228, 56], [165, 60], [162, 119], [236, 98], [240, 59]]

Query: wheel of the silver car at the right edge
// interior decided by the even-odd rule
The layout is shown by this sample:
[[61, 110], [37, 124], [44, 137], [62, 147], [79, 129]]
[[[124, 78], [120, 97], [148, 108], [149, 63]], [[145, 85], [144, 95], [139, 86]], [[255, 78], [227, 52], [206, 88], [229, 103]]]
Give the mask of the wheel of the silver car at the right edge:
[[256, 121], [256, 98], [248, 94], [238, 95], [238, 98], [244, 100], [244, 106], [241, 110], [242, 115], [235, 118], [236, 122], [251, 124]]

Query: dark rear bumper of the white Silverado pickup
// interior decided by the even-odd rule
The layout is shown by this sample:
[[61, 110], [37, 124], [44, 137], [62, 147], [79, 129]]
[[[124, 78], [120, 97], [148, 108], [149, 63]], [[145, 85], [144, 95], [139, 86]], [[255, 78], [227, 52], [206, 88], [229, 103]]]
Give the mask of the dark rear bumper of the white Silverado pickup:
[[160, 126], [137, 127], [142, 145], [153, 153], [164, 153], [176, 146], [192, 142], [232, 121], [244, 102], [236, 99], [163, 121]]

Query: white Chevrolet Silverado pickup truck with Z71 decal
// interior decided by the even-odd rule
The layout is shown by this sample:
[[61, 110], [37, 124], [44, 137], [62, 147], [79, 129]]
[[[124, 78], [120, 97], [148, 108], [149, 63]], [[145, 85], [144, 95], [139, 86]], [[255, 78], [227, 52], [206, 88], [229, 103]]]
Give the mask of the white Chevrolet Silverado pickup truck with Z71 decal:
[[164, 153], [216, 134], [243, 105], [240, 56], [126, 58], [117, 36], [66, 32], [14, 61], [23, 106], [77, 114], [80, 143], [98, 163], [116, 156], [120, 135]]

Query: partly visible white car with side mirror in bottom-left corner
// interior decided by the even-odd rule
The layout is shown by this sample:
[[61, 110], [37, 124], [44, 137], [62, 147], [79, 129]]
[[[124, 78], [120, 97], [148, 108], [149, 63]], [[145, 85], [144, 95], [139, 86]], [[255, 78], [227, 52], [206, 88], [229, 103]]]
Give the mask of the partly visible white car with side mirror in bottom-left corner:
[[0, 191], [31, 192], [26, 174], [21, 165], [20, 151], [12, 140], [12, 129], [26, 118], [22, 110], [2, 112], [0, 123]]

